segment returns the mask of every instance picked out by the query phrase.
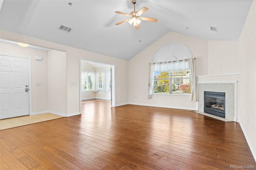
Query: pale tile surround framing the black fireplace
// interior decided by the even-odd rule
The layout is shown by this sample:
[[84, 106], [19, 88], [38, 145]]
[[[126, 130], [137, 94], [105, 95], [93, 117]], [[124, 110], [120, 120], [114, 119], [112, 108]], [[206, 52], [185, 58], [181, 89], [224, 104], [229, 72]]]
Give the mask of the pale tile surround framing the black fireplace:
[[198, 112], [204, 113], [204, 91], [226, 93], [225, 119], [237, 120], [237, 81], [198, 82]]

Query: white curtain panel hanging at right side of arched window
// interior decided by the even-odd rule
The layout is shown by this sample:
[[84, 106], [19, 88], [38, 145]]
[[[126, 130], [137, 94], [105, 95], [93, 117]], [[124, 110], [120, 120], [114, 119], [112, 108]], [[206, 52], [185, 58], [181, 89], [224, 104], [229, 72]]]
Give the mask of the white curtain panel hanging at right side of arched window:
[[197, 84], [196, 84], [196, 75], [195, 75], [195, 63], [194, 58], [188, 59], [190, 65], [190, 83], [191, 83], [191, 101], [197, 101]]

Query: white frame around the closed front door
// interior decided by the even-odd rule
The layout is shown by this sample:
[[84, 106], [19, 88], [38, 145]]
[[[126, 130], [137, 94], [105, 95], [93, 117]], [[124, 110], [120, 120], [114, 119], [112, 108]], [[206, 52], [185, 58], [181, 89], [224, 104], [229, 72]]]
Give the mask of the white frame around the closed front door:
[[18, 58], [26, 58], [28, 59], [28, 112], [29, 115], [32, 115], [32, 81], [31, 81], [31, 57], [24, 57], [24, 56], [17, 56], [17, 55], [8, 55], [8, 54], [2, 54], [7, 57], [18, 57]]

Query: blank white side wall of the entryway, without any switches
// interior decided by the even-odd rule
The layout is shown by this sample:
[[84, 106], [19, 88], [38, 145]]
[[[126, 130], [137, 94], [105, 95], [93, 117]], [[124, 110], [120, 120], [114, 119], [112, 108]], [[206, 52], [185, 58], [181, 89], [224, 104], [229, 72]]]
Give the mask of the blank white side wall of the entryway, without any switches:
[[67, 115], [66, 52], [48, 51], [48, 110]]

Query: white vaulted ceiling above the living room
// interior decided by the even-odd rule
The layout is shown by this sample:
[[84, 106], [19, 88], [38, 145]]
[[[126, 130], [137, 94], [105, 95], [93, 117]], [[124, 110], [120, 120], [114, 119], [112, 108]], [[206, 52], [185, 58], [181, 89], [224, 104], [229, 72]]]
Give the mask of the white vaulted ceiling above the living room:
[[[72, 6], [69, 3], [72, 3]], [[137, 0], [136, 11], [158, 22], [142, 21], [135, 30], [128, 16], [131, 0], [4, 0], [0, 28], [129, 60], [168, 31], [205, 40], [238, 40], [252, 0]], [[60, 25], [73, 30], [58, 30]], [[218, 28], [218, 32], [210, 30]]]

